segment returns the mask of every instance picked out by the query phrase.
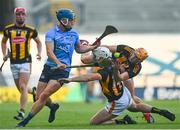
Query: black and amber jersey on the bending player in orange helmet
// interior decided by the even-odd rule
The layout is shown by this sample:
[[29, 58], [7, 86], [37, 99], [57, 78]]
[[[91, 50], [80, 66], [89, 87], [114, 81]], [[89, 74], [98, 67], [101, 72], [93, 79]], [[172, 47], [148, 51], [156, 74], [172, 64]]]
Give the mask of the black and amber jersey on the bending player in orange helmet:
[[118, 45], [116, 52], [120, 53], [118, 61], [120, 61], [121, 64], [125, 64], [125, 70], [128, 72], [130, 78], [136, 76], [141, 71], [141, 63], [133, 64], [128, 60], [129, 56], [134, 52], [132, 47]]

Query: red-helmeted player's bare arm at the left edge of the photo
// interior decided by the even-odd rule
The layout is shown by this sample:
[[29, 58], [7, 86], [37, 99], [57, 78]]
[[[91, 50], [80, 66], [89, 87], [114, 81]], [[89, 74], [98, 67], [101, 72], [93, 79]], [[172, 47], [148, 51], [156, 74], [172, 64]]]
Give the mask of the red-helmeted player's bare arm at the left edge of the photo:
[[1, 41], [1, 49], [2, 49], [2, 54], [3, 54], [3, 60], [6, 61], [8, 59], [8, 55], [6, 54], [6, 50], [7, 50], [7, 40], [8, 37], [3, 36], [2, 41]]

